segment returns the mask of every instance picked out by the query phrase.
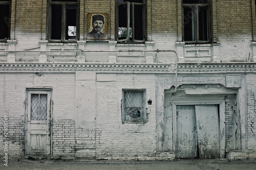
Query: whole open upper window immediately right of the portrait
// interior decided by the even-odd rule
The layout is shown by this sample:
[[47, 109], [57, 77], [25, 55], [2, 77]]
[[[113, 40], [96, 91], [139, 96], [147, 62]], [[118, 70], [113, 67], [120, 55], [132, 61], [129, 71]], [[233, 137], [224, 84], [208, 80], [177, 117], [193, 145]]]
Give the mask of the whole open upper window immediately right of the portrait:
[[145, 42], [145, 0], [116, 1], [116, 40], [118, 42]]

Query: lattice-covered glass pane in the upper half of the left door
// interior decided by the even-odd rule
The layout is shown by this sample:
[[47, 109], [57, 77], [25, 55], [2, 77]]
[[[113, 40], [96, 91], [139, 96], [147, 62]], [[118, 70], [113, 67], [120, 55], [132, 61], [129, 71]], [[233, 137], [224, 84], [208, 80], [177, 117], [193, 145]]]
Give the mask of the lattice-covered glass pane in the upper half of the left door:
[[47, 120], [47, 94], [31, 94], [31, 120]]

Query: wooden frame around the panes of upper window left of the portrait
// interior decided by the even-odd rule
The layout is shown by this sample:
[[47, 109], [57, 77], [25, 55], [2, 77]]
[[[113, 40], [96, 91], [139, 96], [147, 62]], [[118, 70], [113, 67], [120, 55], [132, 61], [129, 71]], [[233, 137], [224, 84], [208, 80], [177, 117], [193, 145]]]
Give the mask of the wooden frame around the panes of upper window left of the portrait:
[[[48, 1], [48, 40], [55, 41], [55, 42], [74, 42], [79, 40], [79, 0], [49, 0]], [[52, 6], [53, 5], [61, 5], [61, 31], [60, 39], [53, 39], [52, 38]], [[66, 39], [68, 35], [68, 28], [67, 28], [67, 6], [76, 6], [76, 36], [74, 39]]]

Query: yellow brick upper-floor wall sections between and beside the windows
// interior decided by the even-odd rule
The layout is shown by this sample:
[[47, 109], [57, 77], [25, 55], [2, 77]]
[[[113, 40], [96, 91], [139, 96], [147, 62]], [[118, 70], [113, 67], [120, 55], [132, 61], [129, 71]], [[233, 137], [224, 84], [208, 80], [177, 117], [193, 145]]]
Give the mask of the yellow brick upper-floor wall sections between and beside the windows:
[[[238, 39], [243, 39], [244, 35], [250, 36], [252, 40], [252, 18], [255, 19], [255, 14], [251, 13], [251, 11], [255, 11], [254, 1], [211, 1], [214, 13], [213, 32], [215, 41], [223, 40], [223, 37], [226, 37], [226, 40], [230, 38], [230, 41], [237, 41]], [[80, 0], [79, 2], [80, 39], [87, 38], [88, 13], [108, 13], [108, 39], [113, 40], [115, 37], [115, 0]], [[175, 41], [180, 41], [182, 33], [181, 8], [181, 0], [148, 0], [148, 39], [157, 42], [154, 36], [167, 35], [167, 39], [171, 38], [176, 39]], [[20, 32], [25, 35], [41, 33], [41, 39], [46, 39], [47, 0], [12, 1], [11, 38], [19, 39], [21, 37], [21, 39], [24, 39], [22, 37], [23, 34]], [[164, 41], [164, 39], [161, 39], [161, 41]]]

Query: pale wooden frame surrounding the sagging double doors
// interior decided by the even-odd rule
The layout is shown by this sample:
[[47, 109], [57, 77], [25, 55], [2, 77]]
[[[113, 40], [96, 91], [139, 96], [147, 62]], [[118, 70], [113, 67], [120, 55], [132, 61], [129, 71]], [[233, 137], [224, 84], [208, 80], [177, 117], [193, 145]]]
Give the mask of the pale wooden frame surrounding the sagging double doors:
[[219, 126], [220, 126], [220, 157], [225, 158], [225, 100], [215, 99], [212, 101], [179, 100], [172, 101], [173, 109], [173, 151], [177, 146], [177, 105], [219, 105]]

